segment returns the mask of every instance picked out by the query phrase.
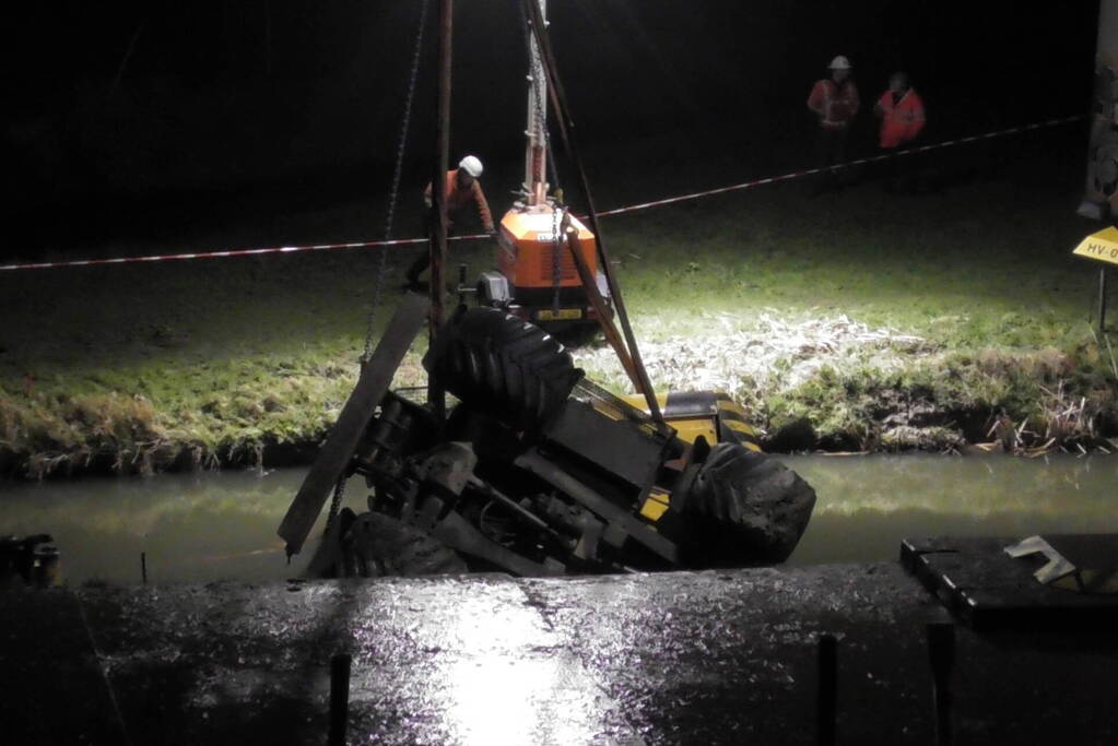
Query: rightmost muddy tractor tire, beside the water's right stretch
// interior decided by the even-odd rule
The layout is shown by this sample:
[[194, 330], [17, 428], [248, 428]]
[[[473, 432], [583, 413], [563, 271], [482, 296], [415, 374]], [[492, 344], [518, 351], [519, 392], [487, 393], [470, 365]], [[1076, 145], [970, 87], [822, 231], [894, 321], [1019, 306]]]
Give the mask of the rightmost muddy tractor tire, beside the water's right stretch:
[[815, 507], [815, 490], [779, 461], [739, 443], [716, 446], [688, 490], [688, 564], [743, 567], [784, 562]]

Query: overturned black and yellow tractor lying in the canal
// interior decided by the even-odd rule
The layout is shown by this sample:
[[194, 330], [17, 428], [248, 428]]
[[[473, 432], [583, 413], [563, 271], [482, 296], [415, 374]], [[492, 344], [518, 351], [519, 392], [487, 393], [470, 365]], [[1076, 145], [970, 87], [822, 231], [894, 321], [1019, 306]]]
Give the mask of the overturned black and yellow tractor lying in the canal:
[[[493, 308], [459, 308], [424, 366], [458, 403], [440, 418], [404, 391], [377, 399], [338, 475], [364, 477], [369, 510], [331, 516], [312, 574], [770, 564], [811, 517], [812, 488], [759, 451], [724, 396], [669, 395], [656, 422], [586, 381], [553, 337]], [[296, 551], [304, 491], [281, 528]]]

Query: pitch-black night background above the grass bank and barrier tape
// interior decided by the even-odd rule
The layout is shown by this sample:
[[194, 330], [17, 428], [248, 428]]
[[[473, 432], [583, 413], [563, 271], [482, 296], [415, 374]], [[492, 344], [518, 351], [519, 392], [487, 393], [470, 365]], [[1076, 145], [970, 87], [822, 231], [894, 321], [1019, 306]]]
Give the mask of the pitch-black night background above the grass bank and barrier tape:
[[[9, 29], [18, 31], [9, 55], [19, 74], [4, 96], [6, 171], [18, 193], [4, 219], [16, 243], [64, 247], [112, 233], [125, 214], [230, 194], [253, 195], [248, 202], [267, 210], [385, 191], [419, 4], [25, 7]], [[432, 0], [432, 20], [436, 13]], [[909, 70], [929, 106], [931, 141], [1082, 113], [1097, 13], [1097, 2], [1078, 0], [551, 0], [549, 8], [584, 146], [655, 143], [635, 151], [646, 162], [665, 146], [676, 159], [693, 152], [698, 165], [680, 180], [686, 188], [703, 181], [704, 159], [729, 159], [742, 175], [809, 160], [804, 99], [839, 52], [855, 64], [863, 103], [892, 69]], [[515, 0], [456, 3], [452, 156], [483, 155], [501, 188], [520, 175], [519, 19]], [[427, 54], [409, 188], [429, 169], [433, 70]], [[869, 117], [863, 125], [871, 147]], [[1086, 142], [1070, 156], [1083, 151]], [[723, 178], [712, 169], [718, 185]], [[98, 220], [86, 219], [93, 214]], [[46, 222], [51, 231], [40, 228]]]

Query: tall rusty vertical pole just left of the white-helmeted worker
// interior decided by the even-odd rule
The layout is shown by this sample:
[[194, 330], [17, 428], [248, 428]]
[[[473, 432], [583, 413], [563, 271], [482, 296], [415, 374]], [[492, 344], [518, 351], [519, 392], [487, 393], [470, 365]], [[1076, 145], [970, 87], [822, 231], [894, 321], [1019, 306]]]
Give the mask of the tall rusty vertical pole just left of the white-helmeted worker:
[[[454, 29], [454, 0], [440, 0], [438, 13], [438, 114], [435, 125], [435, 173], [430, 180], [432, 209], [435, 211], [435, 230], [430, 237], [430, 345], [435, 345], [438, 328], [445, 317], [444, 289], [446, 280], [446, 172], [451, 161], [451, 63], [452, 31]], [[445, 414], [445, 394], [442, 384], [433, 377], [427, 381], [427, 400], [442, 419]]]

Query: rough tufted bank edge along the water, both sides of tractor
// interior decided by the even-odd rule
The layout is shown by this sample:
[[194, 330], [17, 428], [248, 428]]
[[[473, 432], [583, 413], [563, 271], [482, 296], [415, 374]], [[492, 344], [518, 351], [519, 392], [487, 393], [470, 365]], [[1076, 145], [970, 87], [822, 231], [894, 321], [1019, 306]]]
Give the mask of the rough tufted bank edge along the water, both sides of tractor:
[[[659, 338], [654, 319], [638, 323], [648, 327], [638, 333], [654, 385], [728, 392], [769, 451], [1118, 447], [1118, 375], [1106, 346], [966, 353], [846, 316], [703, 321], [712, 333]], [[574, 355], [593, 380], [628, 389], [608, 346]], [[193, 411], [140, 394], [49, 395], [28, 383], [0, 396], [0, 474], [41, 479], [309, 463], [357, 373], [341, 364], [312, 369], [254, 374]], [[421, 382], [418, 360], [409, 357], [396, 385]]]

